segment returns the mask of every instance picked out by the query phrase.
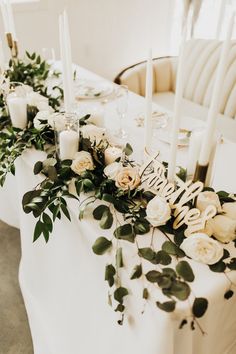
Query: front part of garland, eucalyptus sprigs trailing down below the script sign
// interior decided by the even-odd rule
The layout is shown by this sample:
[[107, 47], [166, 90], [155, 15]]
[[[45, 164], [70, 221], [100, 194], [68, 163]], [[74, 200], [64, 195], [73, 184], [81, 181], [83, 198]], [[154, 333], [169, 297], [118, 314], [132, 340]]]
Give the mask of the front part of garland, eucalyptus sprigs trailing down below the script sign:
[[[81, 121], [83, 125], [85, 121], [86, 119], [83, 118]], [[107, 252], [114, 255], [113, 260], [105, 267], [105, 280], [111, 289], [108, 293], [109, 303], [112, 304], [113, 298], [116, 302], [115, 311], [120, 313], [118, 323], [123, 324], [125, 297], [129, 295], [129, 289], [122, 284], [121, 276], [125, 265], [123, 249], [126, 242], [129, 242], [136, 249], [139, 259], [134, 268], [128, 270], [129, 278], [130, 281], [140, 280], [145, 284], [140, 294], [144, 301], [149, 301], [151, 298], [148, 290], [150, 284], [159, 288], [167, 297], [165, 302], [155, 301], [156, 306], [166, 312], [173, 312], [178, 301], [191, 302], [190, 299], [194, 298], [190, 305], [190, 314], [182, 319], [180, 328], [189, 323], [191, 329], [195, 329], [197, 324], [204, 333], [198, 318], [205, 314], [208, 300], [196, 297], [191, 289], [195, 275], [189, 262], [186, 258], [183, 259], [186, 255], [181, 248], [186, 227], [182, 226], [174, 230], [173, 215], [164, 225], [153, 227], [147, 219], [147, 205], [154, 198], [154, 194], [145, 191], [139, 183], [134, 188], [122, 189], [117, 186], [113, 178], [107, 176], [105, 151], [108, 147], [109, 143], [106, 140], [97, 144], [96, 141], [85, 138], [82, 129], [79, 151], [82, 154], [89, 153], [92, 157], [93, 168], [78, 171], [75, 169], [74, 161], [60, 161], [56, 155], [49, 155], [45, 161], [38, 161], [35, 164], [34, 173], [44, 175], [45, 179], [34, 190], [27, 192], [23, 198], [24, 211], [33, 213], [38, 219], [33, 240], [36, 241], [42, 236], [48, 242], [50, 233], [53, 231], [53, 223], [56, 219], [61, 219], [62, 214], [70, 220], [67, 198], [78, 201], [80, 220], [83, 219], [85, 208], [88, 205], [93, 207], [98, 200], [99, 205], [93, 208], [93, 218], [97, 220], [101, 229], [107, 230], [112, 227], [115, 229], [110, 239], [101, 236], [97, 238], [92, 248], [97, 255]], [[130, 160], [131, 154], [132, 148], [127, 144], [121, 157], [115, 163], [120, 164], [124, 169], [137, 168], [134, 161]], [[180, 177], [183, 178], [183, 170], [180, 171]], [[70, 191], [71, 184], [75, 186], [74, 193]], [[81, 195], [87, 193], [89, 197], [81, 202]], [[235, 199], [225, 192], [219, 192], [218, 196], [221, 203], [235, 202]], [[160, 249], [156, 249], [153, 242], [157, 237], [155, 235], [157, 229], [166, 237]], [[150, 246], [141, 248], [138, 240], [149, 232], [152, 233]], [[144, 268], [147, 263], [151, 269], [145, 273]], [[224, 249], [221, 259], [209, 268], [213, 272], [224, 273], [229, 279], [228, 272], [236, 269], [236, 258], [232, 258]], [[224, 294], [226, 299], [233, 295], [233, 283], [230, 280], [229, 282], [229, 288]]]

